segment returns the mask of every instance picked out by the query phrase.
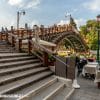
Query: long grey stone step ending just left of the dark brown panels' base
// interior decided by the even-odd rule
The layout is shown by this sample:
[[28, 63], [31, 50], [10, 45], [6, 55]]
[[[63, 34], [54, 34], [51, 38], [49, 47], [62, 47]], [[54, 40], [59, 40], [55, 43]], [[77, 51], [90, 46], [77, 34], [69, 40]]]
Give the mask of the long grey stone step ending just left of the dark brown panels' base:
[[34, 82], [37, 82], [45, 77], [48, 77], [52, 75], [53, 73], [51, 71], [43, 71], [41, 73], [26, 77], [24, 79], [20, 79], [17, 81], [14, 81], [10, 84], [4, 85], [0, 87], [0, 94], [10, 94], [14, 91], [17, 91], [23, 87], [26, 87]]

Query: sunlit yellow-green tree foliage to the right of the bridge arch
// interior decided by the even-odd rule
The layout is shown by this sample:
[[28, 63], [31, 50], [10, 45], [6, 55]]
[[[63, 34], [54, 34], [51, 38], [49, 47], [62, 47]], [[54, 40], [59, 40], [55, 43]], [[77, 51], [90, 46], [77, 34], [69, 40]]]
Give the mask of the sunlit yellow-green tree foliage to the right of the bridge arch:
[[86, 25], [80, 27], [81, 35], [87, 40], [87, 45], [91, 50], [97, 49], [97, 27], [98, 23], [96, 20], [88, 20]]

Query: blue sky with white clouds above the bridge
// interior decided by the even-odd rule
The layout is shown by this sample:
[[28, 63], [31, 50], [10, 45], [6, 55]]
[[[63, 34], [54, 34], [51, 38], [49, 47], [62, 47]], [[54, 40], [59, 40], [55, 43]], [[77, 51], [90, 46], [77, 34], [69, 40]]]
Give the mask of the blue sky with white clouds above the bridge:
[[65, 24], [70, 14], [79, 27], [100, 14], [100, 0], [0, 0], [0, 27], [16, 28], [18, 11], [26, 12], [20, 15], [20, 27]]

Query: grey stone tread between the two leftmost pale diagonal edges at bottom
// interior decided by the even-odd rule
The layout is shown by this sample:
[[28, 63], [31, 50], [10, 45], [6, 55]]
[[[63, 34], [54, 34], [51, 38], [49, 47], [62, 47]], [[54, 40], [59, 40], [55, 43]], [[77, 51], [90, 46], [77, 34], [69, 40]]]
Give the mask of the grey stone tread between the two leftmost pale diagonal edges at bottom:
[[[52, 84], [45, 85], [39, 90], [34, 92], [29, 99], [31, 100], [43, 100], [48, 94], [53, 93], [55, 90], [61, 89], [63, 84], [60, 81], [52, 82]], [[22, 99], [24, 100], [24, 99]], [[28, 100], [28, 99], [27, 99]], [[52, 99], [51, 99], [52, 100]]]

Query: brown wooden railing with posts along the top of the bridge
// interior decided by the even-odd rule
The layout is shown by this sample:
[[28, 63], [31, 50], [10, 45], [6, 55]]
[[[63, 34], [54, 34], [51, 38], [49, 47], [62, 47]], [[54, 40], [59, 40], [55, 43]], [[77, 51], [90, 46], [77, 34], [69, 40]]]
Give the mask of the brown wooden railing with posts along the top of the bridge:
[[[34, 26], [36, 26], [36, 25], [34, 25]], [[46, 38], [46, 40], [47, 40], [47, 38], [49, 39], [51, 37], [51, 34], [55, 35], [55, 34], [58, 34], [58, 33], [64, 32], [64, 31], [72, 31], [72, 26], [71, 25], [63, 25], [63, 26], [53, 25], [51, 27], [45, 28], [43, 25], [41, 25], [40, 27], [37, 27], [36, 34], [38, 34], [38, 36], [41, 39], [44, 40]], [[12, 46], [16, 45], [15, 40], [17, 40], [17, 42], [19, 44], [19, 46], [18, 46], [19, 50], [21, 50], [23, 38], [25, 40], [25, 38], [27, 38], [27, 37], [29, 38], [30, 36], [31, 37], [35, 36], [34, 27], [33, 27], [33, 29], [21, 28], [19, 30], [16, 30], [13, 27], [11, 27], [10, 31], [7, 28], [5, 28], [5, 30], [3, 29], [3, 32], [1, 32], [1, 34], [0, 34], [0, 37], [1, 37], [0, 39], [8, 41], [9, 43], [12, 44]]]

